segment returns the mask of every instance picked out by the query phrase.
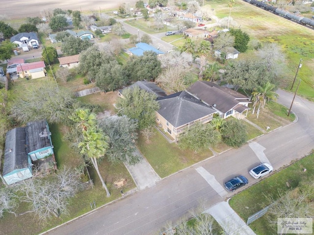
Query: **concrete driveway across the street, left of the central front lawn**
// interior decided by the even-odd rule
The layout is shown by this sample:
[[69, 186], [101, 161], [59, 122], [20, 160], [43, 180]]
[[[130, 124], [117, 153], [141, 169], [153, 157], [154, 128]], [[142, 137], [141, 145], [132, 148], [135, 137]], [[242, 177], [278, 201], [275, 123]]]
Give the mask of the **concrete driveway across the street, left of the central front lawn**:
[[129, 170], [137, 188], [139, 190], [152, 187], [160, 180], [153, 167], [147, 162], [142, 154], [136, 149], [134, 154], [140, 156], [141, 161], [138, 164], [130, 165], [125, 163], [125, 166]]

